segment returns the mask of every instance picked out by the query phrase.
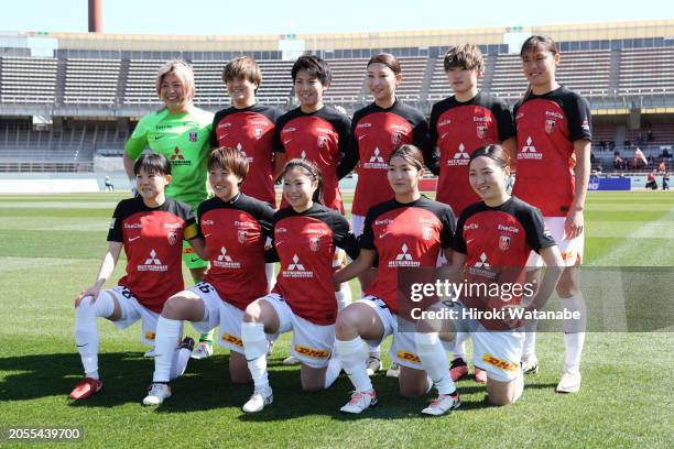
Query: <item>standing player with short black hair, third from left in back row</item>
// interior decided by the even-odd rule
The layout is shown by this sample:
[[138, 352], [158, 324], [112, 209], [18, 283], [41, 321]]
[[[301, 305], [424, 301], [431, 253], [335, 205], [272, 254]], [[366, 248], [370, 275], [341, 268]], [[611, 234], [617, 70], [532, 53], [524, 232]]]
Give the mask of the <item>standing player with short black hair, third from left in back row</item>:
[[[343, 112], [323, 102], [323, 95], [333, 79], [330, 67], [318, 56], [300, 56], [291, 75], [300, 107], [276, 121], [274, 151], [284, 154], [287, 161], [306, 158], [313, 162], [323, 176], [324, 205], [344, 213], [337, 167], [349, 143], [350, 121]], [[281, 206], [287, 206], [285, 199]], [[337, 259], [345, 259], [344, 252], [339, 251]], [[349, 285], [341, 285], [336, 296], [340, 308], [349, 304]], [[284, 361], [286, 364], [296, 362], [293, 357]]]

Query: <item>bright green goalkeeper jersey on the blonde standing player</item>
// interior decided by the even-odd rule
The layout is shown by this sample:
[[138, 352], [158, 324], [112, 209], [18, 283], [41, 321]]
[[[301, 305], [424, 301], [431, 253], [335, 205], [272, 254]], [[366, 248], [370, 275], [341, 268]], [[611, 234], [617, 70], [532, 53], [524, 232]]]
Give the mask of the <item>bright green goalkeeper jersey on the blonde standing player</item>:
[[153, 153], [166, 156], [171, 163], [171, 184], [166, 195], [192, 205], [194, 210], [206, 199], [206, 161], [210, 153], [209, 135], [213, 113], [199, 108], [172, 114], [167, 109], [144, 116], [124, 145], [133, 160], [150, 146]]

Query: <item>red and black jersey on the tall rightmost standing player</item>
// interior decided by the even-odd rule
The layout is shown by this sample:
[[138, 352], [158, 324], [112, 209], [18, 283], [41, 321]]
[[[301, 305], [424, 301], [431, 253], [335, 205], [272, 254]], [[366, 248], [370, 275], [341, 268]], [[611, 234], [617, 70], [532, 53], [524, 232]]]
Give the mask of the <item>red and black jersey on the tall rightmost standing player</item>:
[[518, 130], [518, 179], [513, 195], [541, 209], [544, 217], [565, 217], [575, 195], [574, 142], [590, 141], [587, 100], [559, 88], [529, 95], [514, 108]]

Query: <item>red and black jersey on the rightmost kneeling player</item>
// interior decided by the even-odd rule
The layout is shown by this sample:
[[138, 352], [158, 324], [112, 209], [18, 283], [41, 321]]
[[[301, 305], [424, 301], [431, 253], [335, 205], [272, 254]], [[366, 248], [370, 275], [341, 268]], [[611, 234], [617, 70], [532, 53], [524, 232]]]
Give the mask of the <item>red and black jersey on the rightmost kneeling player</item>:
[[[519, 305], [521, 293], [513, 291], [512, 297], [503, 297], [490, 295], [489, 288], [479, 291], [475, 286], [523, 285], [531, 250], [540, 252], [554, 245], [555, 240], [545, 228], [541, 211], [521, 199], [511, 197], [498, 207], [489, 207], [485, 202], [468, 206], [459, 217], [452, 244], [454, 251], [466, 254], [464, 275], [466, 285], [472, 288], [471, 292], [464, 292], [461, 300], [466, 306], [479, 310]], [[507, 328], [498, 321], [482, 324], [490, 329]]]

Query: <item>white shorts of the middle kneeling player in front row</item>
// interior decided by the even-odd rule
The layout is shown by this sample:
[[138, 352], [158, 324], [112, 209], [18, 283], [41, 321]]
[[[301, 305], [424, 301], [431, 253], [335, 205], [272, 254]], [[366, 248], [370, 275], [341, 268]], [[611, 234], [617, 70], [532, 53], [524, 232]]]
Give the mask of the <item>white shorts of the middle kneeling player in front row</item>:
[[291, 354], [311, 368], [325, 368], [335, 347], [335, 325], [315, 325], [293, 313], [287, 303], [278, 294], [270, 293], [263, 298], [272, 305], [279, 316], [279, 331], [268, 336], [276, 340], [281, 333], [293, 331]]

